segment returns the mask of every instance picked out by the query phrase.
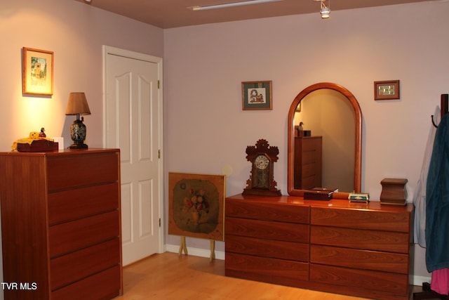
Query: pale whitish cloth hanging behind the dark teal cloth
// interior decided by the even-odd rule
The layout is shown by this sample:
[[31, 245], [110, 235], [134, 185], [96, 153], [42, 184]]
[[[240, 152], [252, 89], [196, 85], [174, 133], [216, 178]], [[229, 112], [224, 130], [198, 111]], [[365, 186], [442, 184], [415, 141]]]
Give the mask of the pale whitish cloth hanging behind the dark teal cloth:
[[[441, 119], [441, 110], [439, 106], [436, 106], [434, 113], [434, 122], [438, 124]], [[413, 204], [415, 204], [415, 222], [413, 223], [415, 228], [414, 241], [415, 244], [419, 244], [421, 247], [426, 247], [426, 183], [427, 174], [429, 173], [430, 158], [432, 155], [432, 149], [434, 148], [436, 128], [433, 124], [430, 124], [429, 137], [427, 138], [426, 150], [424, 152], [424, 160], [422, 162], [420, 180], [416, 185], [416, 190], [413, 195]]]

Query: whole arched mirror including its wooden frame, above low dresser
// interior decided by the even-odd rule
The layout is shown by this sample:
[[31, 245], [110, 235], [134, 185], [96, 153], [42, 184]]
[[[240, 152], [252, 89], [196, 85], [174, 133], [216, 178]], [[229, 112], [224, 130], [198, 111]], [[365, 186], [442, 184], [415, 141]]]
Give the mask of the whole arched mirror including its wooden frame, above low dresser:
[[288, 111], [288, 194], [311, 188], [337, 188], [344, 197], [360, 193], [361, 132], [360, 106], [343, 86], [323, 82], [301, 91]]

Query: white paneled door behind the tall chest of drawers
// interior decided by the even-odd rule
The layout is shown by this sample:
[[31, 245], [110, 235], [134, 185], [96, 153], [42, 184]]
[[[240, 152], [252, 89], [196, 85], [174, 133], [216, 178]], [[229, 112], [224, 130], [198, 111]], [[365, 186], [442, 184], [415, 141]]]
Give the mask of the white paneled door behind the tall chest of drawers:
[[121, 153], [126, 266], [162, 252], [161, 60], [114, 50], [105, 47], [105, 147]]

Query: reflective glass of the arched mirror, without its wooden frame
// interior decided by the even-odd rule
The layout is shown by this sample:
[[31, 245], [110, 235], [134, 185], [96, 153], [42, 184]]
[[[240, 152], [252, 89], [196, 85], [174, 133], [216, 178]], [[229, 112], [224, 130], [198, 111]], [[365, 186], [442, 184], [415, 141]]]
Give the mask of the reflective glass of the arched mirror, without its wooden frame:
[[295, 189], [354, 190], [355, 124], [342, 93], [319, 89], [302, 98], [295, 112]]

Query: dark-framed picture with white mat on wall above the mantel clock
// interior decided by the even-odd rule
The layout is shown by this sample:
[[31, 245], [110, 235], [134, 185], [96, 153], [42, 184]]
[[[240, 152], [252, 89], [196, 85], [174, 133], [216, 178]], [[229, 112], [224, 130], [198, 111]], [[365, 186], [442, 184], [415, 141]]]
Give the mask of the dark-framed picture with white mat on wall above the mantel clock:
[[243, 110], [272, 110], [272, 81], [246, 81], [241, 83]]

